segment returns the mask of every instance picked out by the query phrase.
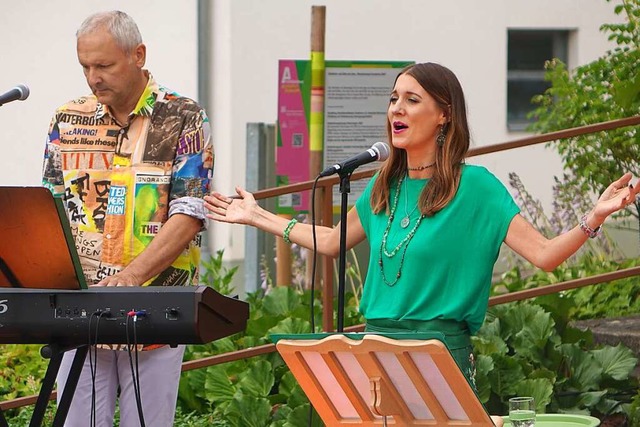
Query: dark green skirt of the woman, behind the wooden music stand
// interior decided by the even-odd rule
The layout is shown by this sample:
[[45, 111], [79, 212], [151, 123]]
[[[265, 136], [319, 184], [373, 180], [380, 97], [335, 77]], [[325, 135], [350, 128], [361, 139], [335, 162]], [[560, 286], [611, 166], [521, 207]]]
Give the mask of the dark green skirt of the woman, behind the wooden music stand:
[[445, 344], [458, 367], [476, 390], [476, 361], [471, 346], [471, 334], [465, 322], [434, 319], [419, 320], [367, 320], [365, 332], [380, 333], [419, 333], [439, 332], [444, 335]]

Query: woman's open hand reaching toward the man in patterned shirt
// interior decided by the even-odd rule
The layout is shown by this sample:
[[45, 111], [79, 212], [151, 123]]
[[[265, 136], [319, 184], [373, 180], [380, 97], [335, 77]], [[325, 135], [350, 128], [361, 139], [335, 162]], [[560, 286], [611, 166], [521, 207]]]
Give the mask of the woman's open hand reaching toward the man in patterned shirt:
[[225, 196], [213, 192], [204, 196], [204, 207], [209, 211], [207, 218], [232, 224], [251, 225], [251, 219], [256, 213], [258, 204], [253, 194], [241, 187], [236, 187], [238, 196]]

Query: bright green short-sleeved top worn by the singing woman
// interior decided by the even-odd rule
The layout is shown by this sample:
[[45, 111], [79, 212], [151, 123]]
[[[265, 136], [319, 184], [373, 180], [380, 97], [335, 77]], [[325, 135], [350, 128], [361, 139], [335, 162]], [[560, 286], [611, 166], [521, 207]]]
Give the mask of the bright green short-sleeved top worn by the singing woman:
[[[422, 220], [409, 241], [401, 277], [393, 286], [380, 271], [380, 246], [389, 215], [371, 211], [371, 189], [377, 175], [356, 202], [360, 222], [369, 240], [369, 269], [360, 310], [366, 319], [465, 321], [473, 334], [487, 311], [493, 265], [509, 224], [519, 208], [502, 183], [481, 166], [463, 165], [460, 186], [449, 204]], [[414, 228], [420, 212], [416, 206], [428, 179], [405, 178], [387, 237], [386, 252]], [[397, 183], [392, 186], [393, 206]], [[406, 196], [408, 195], [408, 199]], [[411, 223], [402, 228], [410, 213]], [[382, 254], [384, 273], [392, 283], [399, 270], [404, 246], [388, 257]]]

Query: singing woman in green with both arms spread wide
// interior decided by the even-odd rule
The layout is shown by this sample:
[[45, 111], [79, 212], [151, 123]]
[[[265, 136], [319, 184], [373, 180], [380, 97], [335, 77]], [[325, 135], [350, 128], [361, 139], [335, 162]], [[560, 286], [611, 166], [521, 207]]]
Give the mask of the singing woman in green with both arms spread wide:
[[[347, 248], [370, 244], [360, 309], [366, 329], [428, 332], [446, 343], [473, 384], [470, 335], [482, 325], [501, 244], [546, 271], [572, 255], [613, 212], [635, 201], [626, 173], [572, 230], [547, 239], [521, 215], [505, 187], [464, 163], [469, 128], [462, 87], [447, 68], [412, 65], [396, 78], [387, 112], [388, 160], [347, 215]], [[205, 197], [208, 217], [258, 227], [312, 248], [311, 226], [274, 215], [251, 193]], [[318, 252], [337, 257], [340, 227], [318, 227]], [[393, 301], [393, 304], [389, 304]]]

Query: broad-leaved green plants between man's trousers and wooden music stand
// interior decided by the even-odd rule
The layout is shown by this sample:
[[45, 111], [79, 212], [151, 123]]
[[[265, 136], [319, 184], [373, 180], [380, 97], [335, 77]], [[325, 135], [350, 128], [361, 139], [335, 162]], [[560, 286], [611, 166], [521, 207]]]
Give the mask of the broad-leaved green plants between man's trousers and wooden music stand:
[[[189, 346], [185, 358], [267, 344], [272, 334], [311, 332], [308, 292], [275, 287], [262, 297], [250, 294], [247, 300], [251, 313], [244, 333], [204, 346]], [[316, 313], [317, 323], [320, 315]], [[214, 419], [227, 420], [234, 426], [306, 426], [310, 408], [277, 353], [185, 372], [180, 382], [179, 403], [184, 412], [209, 413]], [[299, 419], [304, 421], [299, 423]]]

